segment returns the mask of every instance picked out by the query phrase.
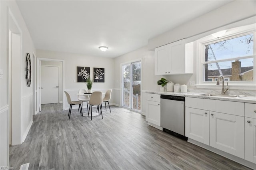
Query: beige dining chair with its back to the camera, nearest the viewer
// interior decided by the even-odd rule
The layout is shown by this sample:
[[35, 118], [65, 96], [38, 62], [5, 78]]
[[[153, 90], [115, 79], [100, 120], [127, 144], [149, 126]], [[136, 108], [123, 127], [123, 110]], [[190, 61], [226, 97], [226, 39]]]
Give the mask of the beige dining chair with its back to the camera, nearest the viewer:
[[89, 111], [88, 111], [88, 117], [91, 109], [91, 120], [92, 120], [92, 106], [97, 106], [97, 110], [99, 109], [99, 115], [101, 114], [102, 119], [102, 111], [101, 111], [101, 104], [103, 102], [102, 92], [101, 91], [94, 91], [92, 92], [92, 95], [90, 96], [89, 100]]

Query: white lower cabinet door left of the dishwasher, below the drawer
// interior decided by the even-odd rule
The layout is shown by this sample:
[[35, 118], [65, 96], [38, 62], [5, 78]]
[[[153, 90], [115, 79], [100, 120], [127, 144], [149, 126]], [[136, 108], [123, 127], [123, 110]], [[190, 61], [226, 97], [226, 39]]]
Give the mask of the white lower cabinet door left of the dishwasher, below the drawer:
[[147, 100], [146, 121], [160, 126], [160, 103]]

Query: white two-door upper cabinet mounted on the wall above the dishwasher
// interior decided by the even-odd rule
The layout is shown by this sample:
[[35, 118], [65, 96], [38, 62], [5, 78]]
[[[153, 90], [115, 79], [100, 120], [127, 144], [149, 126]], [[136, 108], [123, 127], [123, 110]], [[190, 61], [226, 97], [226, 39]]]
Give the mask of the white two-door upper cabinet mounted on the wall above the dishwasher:
[[193, 43], [179, 40], [155, 49], [155, 75], [193, 73]]

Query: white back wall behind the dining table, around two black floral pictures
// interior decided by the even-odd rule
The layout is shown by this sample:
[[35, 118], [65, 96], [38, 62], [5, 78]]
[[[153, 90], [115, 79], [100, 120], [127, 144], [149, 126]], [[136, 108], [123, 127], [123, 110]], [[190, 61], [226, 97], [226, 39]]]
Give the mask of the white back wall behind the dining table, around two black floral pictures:
[[[106, 57], [93, 57], [74, 53], [61, 53], [57, 51], [36, 50], [36, 57], [51, 58], [64, 60], [64, 90], [68, 91], [72, 100], [77, 100], [79, 89], [87, 89], [86, 83], [77, 82], [77, 67], [90, 67], [90, 77], [93, 78], [93, 68], [105, 68], [105, 82], [93, 83], [92, 91], [106, 92], [107, 89], [114, 88], [114, 59]], [[75, 80], [75, 82], [73, 82]], [[114, 101], [112, 94], [110, 103]], [[66, 96], [63, 96], [64, 109], [68, 109], [69, 105], [66, 102]], [[84, 105], [86, 107], [86, 105]], [[74, 107], [75, 108], [75, 107]]]

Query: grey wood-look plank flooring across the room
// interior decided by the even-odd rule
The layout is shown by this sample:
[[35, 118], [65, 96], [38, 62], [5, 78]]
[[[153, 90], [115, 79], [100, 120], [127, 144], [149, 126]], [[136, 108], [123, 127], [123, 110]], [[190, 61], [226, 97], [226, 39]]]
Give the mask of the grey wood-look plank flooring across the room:
[[[107, 108], [108, 109], [108, 108]], [[62, 104], [42, 105], [26, 140], [10, 147], [10, 166], [74, 170], [248, 170], [232, 160], [147, 125], [145, 117], [121, 107], [81, 117]], [[96, 108], [95, 108], [96, 111]]]

